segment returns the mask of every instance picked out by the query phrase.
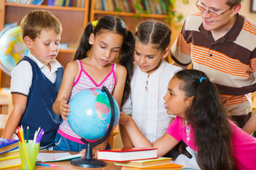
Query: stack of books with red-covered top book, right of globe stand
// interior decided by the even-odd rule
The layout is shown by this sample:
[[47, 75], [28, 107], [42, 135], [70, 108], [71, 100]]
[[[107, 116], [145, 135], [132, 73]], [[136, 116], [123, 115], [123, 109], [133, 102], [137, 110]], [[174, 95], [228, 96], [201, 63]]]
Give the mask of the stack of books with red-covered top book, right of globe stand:
[[97, 158], [113, 161], [122, 170], [182, 170], [181, 165], [171, 163], [171, 158], [157, 157], [157, 148], [132, 147], [126, 149], [99, 150]]

